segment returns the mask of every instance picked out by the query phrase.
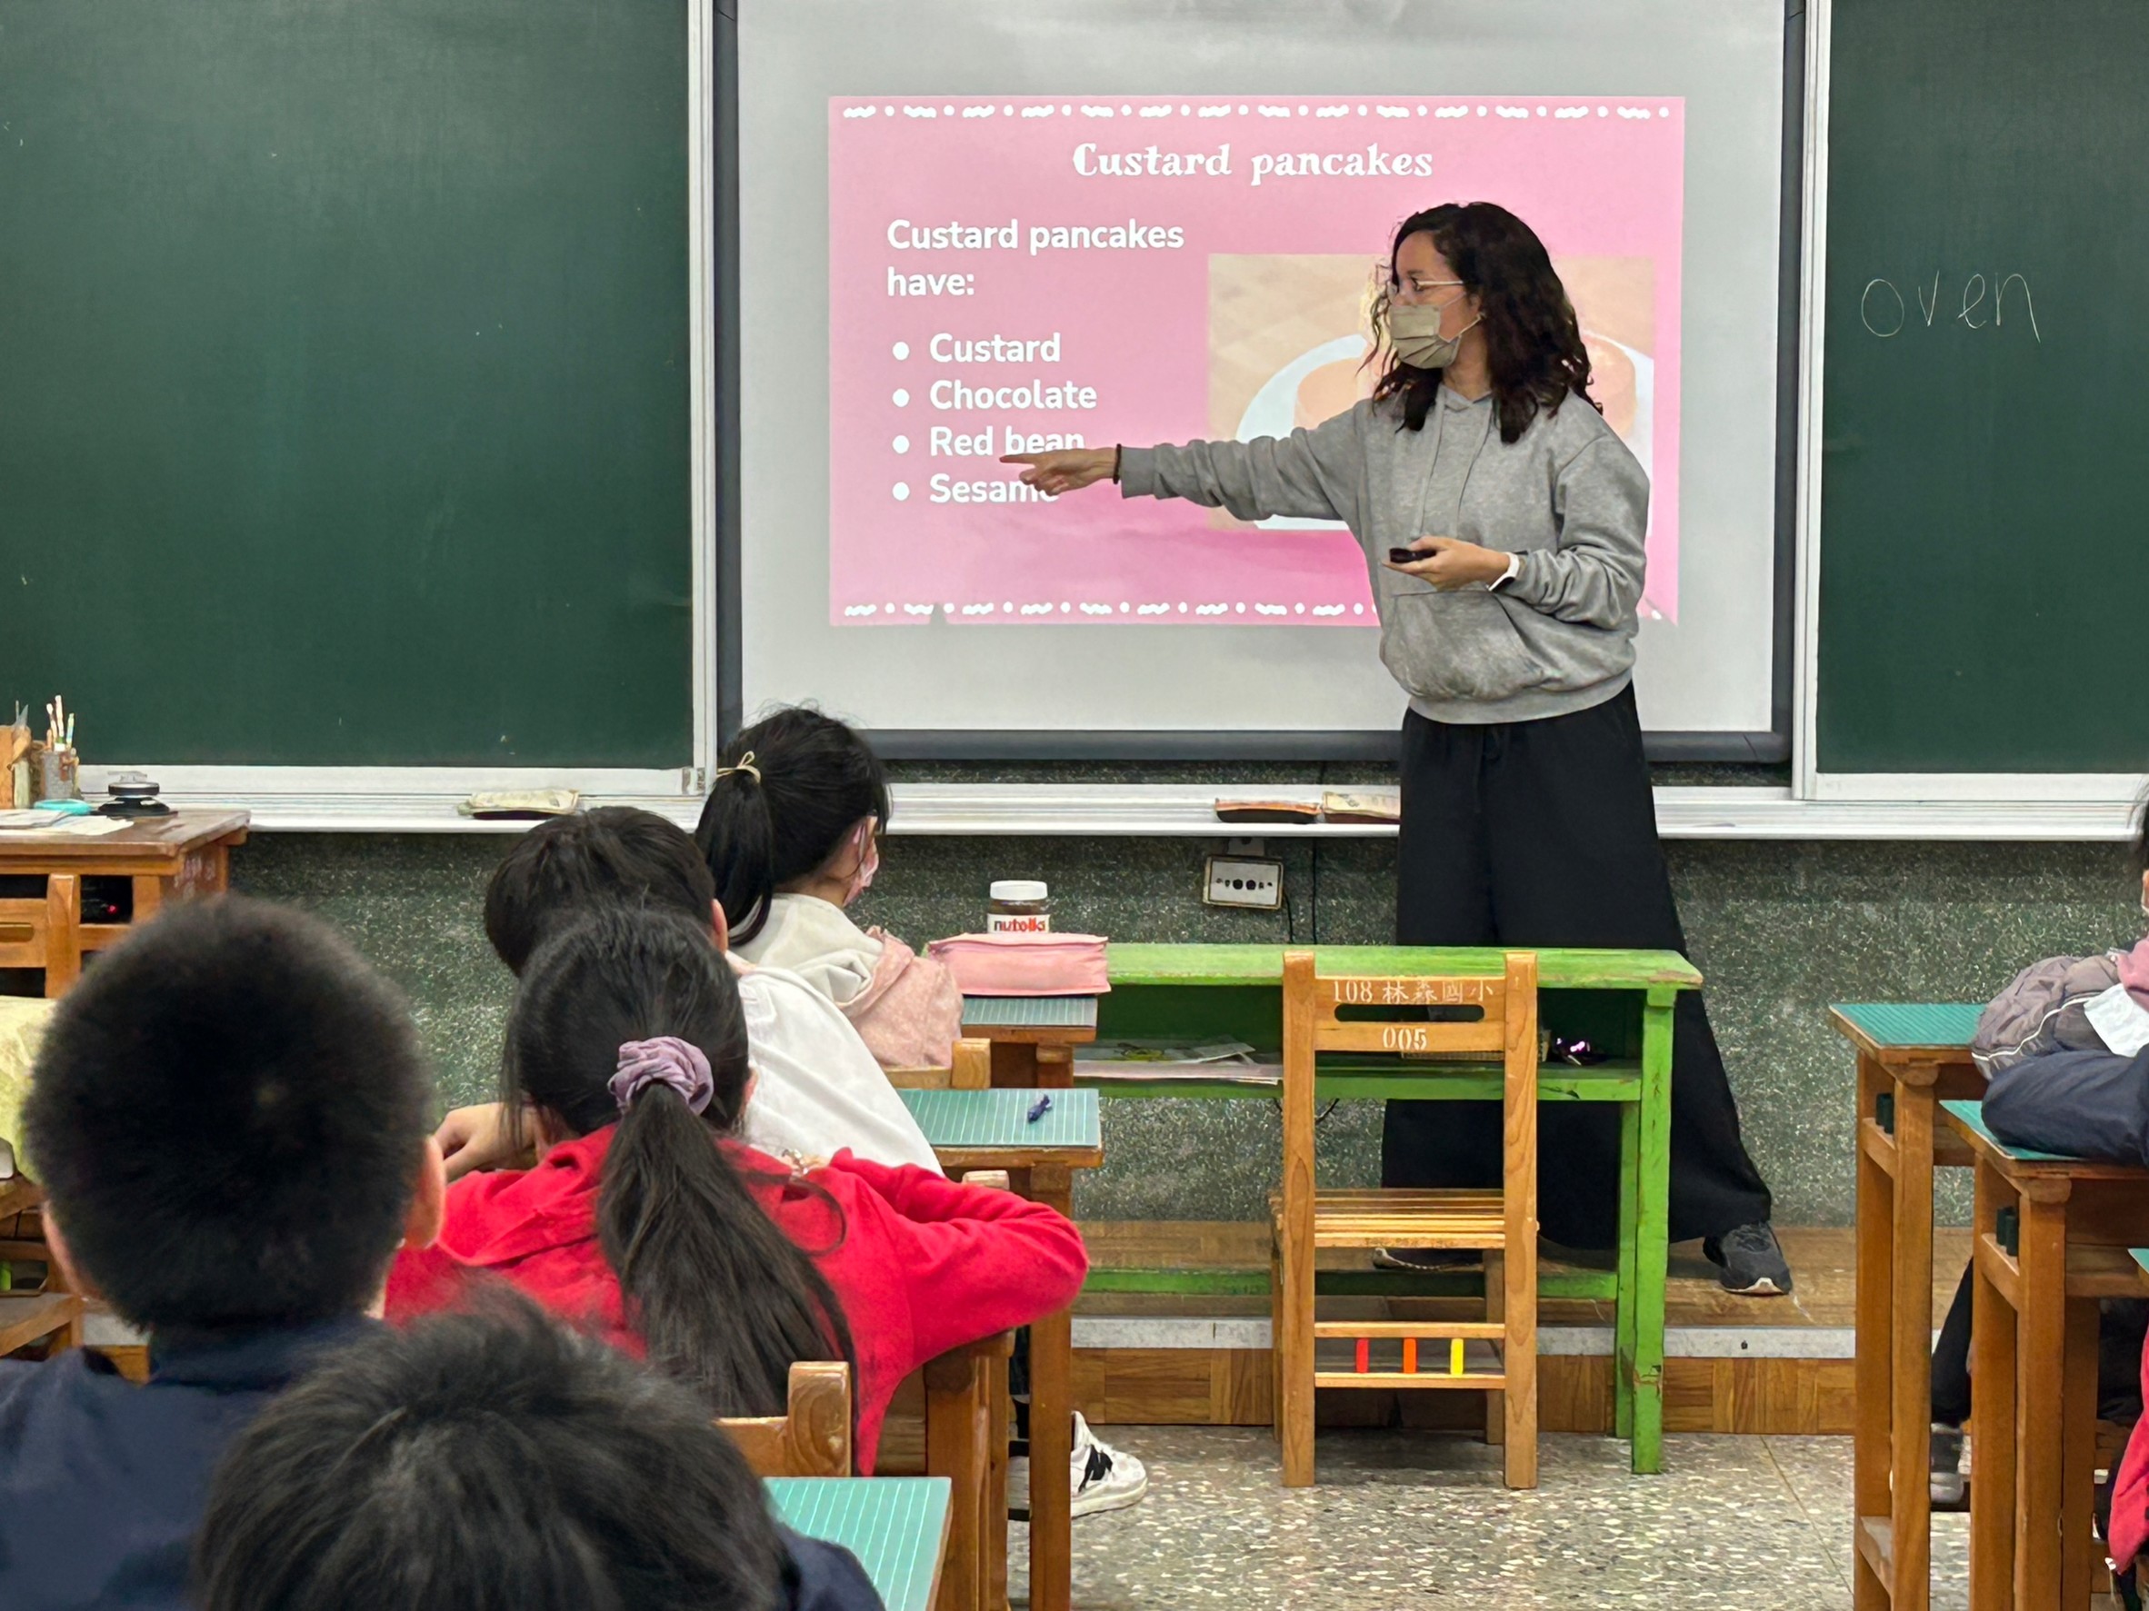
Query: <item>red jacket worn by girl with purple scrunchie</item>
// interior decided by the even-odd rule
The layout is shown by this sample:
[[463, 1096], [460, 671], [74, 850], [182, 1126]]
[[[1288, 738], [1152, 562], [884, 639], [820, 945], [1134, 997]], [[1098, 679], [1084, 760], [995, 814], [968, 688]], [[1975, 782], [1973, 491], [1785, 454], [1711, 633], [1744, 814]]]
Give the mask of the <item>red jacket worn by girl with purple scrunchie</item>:
[[[597, 1184], [612, 1128], [548, 1151], [535, 1169], [464, 1175], [447, 1192], [441, 1239], [389, 1272], [389, 1319], [453, 1304], [473, 1269], [505, 1276], [554, 1315], [640, 1353], [619, 1278], [597, 1246]], [[1090, 1259], [1081, 1233], [1042, 1203], [890, 1169], [849, 1151], [812, 1179], [840, 1209], [789, 1186], [774, 1158], [722, 1143], [761, 1207], [812, 1254], [857, 1349], [857, 1469], [872, 1471], [888, 1400], [948, 1349], [1066, 1308]], [[771, 1179], [761, 1181], [759, 1175]], [[832, 1252], [821, 1252], [834, 1248]]]

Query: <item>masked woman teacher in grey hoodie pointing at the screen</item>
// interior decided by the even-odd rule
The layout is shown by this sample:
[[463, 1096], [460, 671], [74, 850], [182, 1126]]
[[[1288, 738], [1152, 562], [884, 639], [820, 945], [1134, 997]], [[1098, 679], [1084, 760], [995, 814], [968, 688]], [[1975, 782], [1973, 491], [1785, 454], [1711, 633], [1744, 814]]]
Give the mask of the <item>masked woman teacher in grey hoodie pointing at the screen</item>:
[[[1380, 657], [1410, 696], [1395, 932], [1403, 945], [1685, 949], [1633, 702], [1648, 477], [1590, 402], [1590, 359], [1537, 234], [1489, 202], [1397, 228], [1350, 412], [1281, 438], [1014, 455], [1062, 494], [1341, 520], [1373, 571]], [[1403, 561], [1390, 550], [1408, 548]], [[1545, 1235], [1616, 1242], [1618, 1113], [1541, 1115]], [[1500, 1108], [1390, 1102], [1386, 1186], [1498, 1186]], [[1672, 1239], [1721, 1282], [1786, 1293], [1769, 1188], [1698, 992], [1672, 1035]], [[1386, 1263], [1427, 1267], [1420, 1250]]]

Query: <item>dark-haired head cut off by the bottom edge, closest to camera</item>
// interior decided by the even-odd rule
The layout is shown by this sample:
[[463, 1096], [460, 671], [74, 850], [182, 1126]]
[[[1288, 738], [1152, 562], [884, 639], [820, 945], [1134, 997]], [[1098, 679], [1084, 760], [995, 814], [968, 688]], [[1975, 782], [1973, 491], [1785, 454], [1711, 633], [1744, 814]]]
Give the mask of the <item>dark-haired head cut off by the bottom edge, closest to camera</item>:
[[204, 1611], [763, 1611], [784, 1547], [677, 1383], [527, 1306], [340, 1351], [226, 1452]]

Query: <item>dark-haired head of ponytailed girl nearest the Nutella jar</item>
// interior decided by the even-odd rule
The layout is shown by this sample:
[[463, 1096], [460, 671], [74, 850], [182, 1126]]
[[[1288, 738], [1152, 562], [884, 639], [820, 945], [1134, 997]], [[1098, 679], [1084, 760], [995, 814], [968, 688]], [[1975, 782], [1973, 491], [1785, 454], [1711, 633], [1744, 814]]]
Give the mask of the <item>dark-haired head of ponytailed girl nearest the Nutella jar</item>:
[[888, 823], [888, 773], [832, 715], [784, 709], [724, 745], [694, 842], [733, 941], [752, 941], [776, 891], [825, 868], [868, 816]]

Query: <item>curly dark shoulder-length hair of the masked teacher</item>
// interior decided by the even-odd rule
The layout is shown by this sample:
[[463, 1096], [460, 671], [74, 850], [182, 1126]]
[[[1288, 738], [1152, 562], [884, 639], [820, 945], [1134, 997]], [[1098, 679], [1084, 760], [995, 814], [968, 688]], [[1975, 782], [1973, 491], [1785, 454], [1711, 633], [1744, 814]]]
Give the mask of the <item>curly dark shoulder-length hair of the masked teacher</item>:
[[[1537, 230], [1494, 202], [1442, 202], [1395, 226], [1388, 284], [1373, 299], [1373, 339], [1380, 346], [1386, 346], [1388, 333], [1395, 253], [1418, 232], [1433, 236], [1463, 290], [1479, 299], [1502, 442], [1521, 436], [1539, 408], [1560, 412], [1571, 395], [1603, 412], [1603, 404], [1590, 397], [1590, 354], [1582, 346], [1575, 307], [1552, 271], [1545, 243], [1537, 238]], [[1401, 397], [1403, 425], [1423, 430], [1440, 376], [1440, 369], [1414, 369], [1390, 352], [1373, 400]]]

